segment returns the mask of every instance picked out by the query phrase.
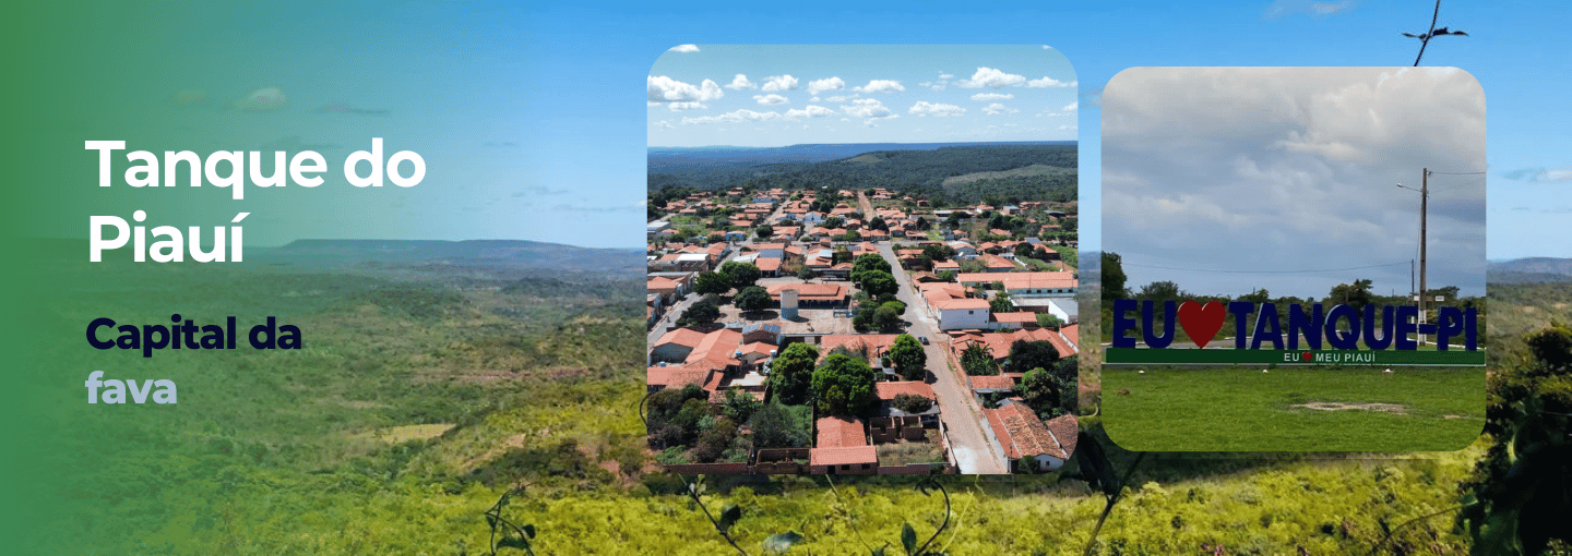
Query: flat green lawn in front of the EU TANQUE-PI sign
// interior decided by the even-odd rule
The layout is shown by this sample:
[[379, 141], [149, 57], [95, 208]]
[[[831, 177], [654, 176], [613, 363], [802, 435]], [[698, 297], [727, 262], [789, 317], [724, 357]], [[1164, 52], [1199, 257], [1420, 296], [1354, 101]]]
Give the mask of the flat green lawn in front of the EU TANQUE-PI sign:
[[1132, 451], [1457, 451], [1484, 427], [1482, 368], [1261, 371], [1110, 366], [1102, 422]]

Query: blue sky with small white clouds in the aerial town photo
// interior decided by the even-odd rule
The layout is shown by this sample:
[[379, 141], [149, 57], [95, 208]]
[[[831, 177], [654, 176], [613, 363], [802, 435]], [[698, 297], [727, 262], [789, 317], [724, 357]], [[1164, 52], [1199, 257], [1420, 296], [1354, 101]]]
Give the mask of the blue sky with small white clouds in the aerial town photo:
[[651, 146], [1075, 140], [1045, 46], [706, 46], [649, 69]]

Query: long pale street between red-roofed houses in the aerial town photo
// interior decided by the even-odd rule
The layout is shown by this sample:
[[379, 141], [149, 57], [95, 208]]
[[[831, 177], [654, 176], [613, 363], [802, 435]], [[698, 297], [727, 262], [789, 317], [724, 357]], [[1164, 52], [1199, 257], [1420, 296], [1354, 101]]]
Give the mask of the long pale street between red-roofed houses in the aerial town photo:
[[992, 433], [984, 430], [984, 422], [987, 421], [982, 418], [982, 408], [971, 397], [970, 385], [965, 383], [964, 377], [957, 375], [957, 371], [951, 371], [946, 363], [949, 360], [949, 336], [938, 333], [938, 317], [929, 313], [927, 303], [923, 302], [910, 281], [905, 280], [893, 247], [890, 243], [880, 245], [879, 253], [883, 254], [896, 273], [901, 273], [896, 278], [901, 284], [896, 298], [905, 303], [905, 319], [912, 324], [905, 328], [907, 333], [918, 338], [927, 336], [929, 339], [929, 344], [923, 350], [927, 352], [927, 368], [935, 377], [934, 393], [938, 394], [940, 415], [949, 429], [949, 446], [956, 452], [956, 463], [960, 466], [960, 473], [1009, 473], [1005, 468], [1005, 454], [995, 449], [989, 440]]

